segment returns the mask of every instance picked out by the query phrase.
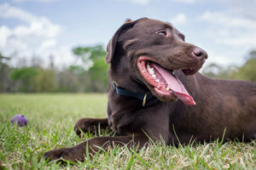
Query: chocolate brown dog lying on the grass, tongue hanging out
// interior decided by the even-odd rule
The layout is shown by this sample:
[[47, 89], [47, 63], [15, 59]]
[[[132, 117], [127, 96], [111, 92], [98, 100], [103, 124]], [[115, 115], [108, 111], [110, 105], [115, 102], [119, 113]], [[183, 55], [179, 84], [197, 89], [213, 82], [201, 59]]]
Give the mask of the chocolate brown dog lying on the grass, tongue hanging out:
[[[184, 42], [171, 24], [128, 20], [108, 43], [108, 118], [82, 118], [75, 130], [98, 124], [119, 136], [97, 137], [71, 148], [44, 153], [49, 160], [83, 161], [85, 153], [113, 144], [163, 139], [188, 144], [220, 138], [249, 141], [256, 135], [256, 84], [218, 80], [196, 73], [207, 53]], [[87, 150], [87, 149], [88, 150]]]

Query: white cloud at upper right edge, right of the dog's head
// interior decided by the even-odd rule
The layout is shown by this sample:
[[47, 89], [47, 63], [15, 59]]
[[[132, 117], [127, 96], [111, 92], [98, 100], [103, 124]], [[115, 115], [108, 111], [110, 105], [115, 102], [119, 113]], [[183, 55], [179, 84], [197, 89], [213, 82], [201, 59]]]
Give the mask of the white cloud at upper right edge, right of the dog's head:
[[199, 20], [207, 22], [207, 37], [231, 46], [256, 46], [256, 22], [240, 16], [207, 11]]

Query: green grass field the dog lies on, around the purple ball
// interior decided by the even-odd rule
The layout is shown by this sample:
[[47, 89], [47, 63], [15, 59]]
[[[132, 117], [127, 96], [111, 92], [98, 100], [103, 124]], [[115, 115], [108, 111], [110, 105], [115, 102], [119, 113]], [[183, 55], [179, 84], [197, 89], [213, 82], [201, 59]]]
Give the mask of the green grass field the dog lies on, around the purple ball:
[[[106, 116], [107, 100], [107, 94], [1, 94], [0, 169], [256, 169], [256, 141], [116, 147], [66, 167], [42, 159], [44, 151], [89, 139], [79, 139], [73, 126], [83, 116]], [[27, 117], [27, 127], [10, 123], [17, 114]]]

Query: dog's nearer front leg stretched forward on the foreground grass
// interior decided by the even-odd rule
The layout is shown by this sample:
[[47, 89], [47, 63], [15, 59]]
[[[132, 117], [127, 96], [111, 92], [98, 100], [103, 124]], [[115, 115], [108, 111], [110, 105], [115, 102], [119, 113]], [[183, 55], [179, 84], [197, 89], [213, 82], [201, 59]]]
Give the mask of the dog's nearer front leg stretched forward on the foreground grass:
[[148, 138], [145, 135], [134, 136], [118, 136], [118, 137], [97, 137], [84, 141], [71, 148], [61, 148], [57, 150], [49, 150], [44, 153], [44, 158], [49, 161], [63, 159], [67, 161], [84, 161], [86, 156], [93, 156], [98, 151], [108, 150], [108, 147], [124, 146], [129, 148], [135, 146], [141, 149], [147, 144]]

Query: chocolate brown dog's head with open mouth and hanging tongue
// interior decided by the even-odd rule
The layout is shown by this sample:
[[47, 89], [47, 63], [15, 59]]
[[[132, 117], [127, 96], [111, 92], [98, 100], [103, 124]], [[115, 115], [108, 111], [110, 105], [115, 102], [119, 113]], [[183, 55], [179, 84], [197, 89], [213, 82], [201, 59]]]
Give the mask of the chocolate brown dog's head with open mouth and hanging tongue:
[[195, 105], [173, 71], [195, 74], [207, 53], [184, 42], [183, 34], [170, 23], [147, 18], [127, 20], [108, 42], [107, 52], [106, 62], [111, 63], [113, 76], [142, 84], [162, 101], [178, 98], [184, 104]]

